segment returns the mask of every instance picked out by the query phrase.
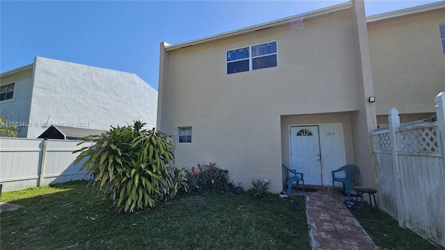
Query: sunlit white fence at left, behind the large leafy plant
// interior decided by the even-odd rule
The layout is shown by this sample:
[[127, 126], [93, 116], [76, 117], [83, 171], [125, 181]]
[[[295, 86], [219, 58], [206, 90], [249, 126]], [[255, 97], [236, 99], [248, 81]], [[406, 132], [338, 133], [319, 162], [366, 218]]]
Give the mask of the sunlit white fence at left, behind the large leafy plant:
[[49, 183], [80, 180], [81, 163], [74, 165], [81, 147], [90, 146], [74, 140], [0, 138], [0, 183], [2, 191], [14, 191]]

